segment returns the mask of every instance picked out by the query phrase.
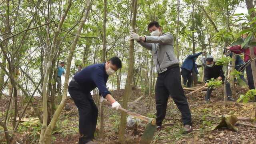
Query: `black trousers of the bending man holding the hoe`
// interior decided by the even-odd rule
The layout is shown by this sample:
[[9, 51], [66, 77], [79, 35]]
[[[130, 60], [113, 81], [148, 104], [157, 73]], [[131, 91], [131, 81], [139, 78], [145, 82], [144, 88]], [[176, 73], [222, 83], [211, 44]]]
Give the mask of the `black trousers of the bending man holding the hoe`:
[[68, 92], [74, 100], [79, 113], [79, 132], [81, 137], [79, 138], [78, 144], [85, 144], [94, 139], [98, 108], [90, 92], [84, 92], [76, 82], [71, 81], [69, 83]]

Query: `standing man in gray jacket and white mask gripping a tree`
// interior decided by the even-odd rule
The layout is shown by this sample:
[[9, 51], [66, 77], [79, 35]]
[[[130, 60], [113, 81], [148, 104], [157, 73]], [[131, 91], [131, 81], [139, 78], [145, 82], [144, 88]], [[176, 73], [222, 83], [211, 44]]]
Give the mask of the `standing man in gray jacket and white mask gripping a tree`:
[[181, 86], [180, 67], [173, 48], [173, 35], [170, 32], [162, 34], [162, 28], [155, 21], [148, 24], [148, 31], [151, 36], [139, 36], [133, 29], [130, 29], [129, 40], [136, 40], [141, 46], [151, 50], [153, 54], [154, 65], [158, 72], [155, 90], [157, 128], [162, 128], [168, 98], [171, 95], [182, 114], [184, 133], [191, 132], [191, 113]]

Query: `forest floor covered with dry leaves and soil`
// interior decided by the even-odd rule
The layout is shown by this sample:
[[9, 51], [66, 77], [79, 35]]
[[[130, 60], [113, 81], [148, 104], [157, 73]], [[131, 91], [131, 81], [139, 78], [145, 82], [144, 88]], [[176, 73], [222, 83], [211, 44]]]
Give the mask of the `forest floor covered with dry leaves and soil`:
[[[198, 86], [199, 87], [199, 86]], [[244, 94], [246, 90], [238, 86], [232, 91], [233, 98], [238, 98], [240, 94]], [[119, 102], [124, 90], [114, 90], [113, 96]], [[186, 92], [187, 93], [187, 92]], [[140, 96], [144, 96], [137, 103], [128, 104], [128, 109], [139, 114], [154, 117], [155, 116], [155, 102], [154, 96], [149, 98], [139, 89], [133, 90], [130, 102], [134, 102]], [[227, 129], [213, 130], [219, 124], [221, 118], [214, 118], [213, 116], [222, 116], [226, 114], [233, 114], [238, 117], [253, 117], [255, 114], [254, 103], [224, 103], [223, 90], [217, 89], [212, 92], [212, 97], [209, 103], [204, 102], [205, 92], [197, 92], [192, 96], [188, 96], [188, 102], [192, 112], [193, 129], [189, 134], [182, 134], [181, 115], [174, 104], [172, 98], [169, 98], [166, 118], [164, 120], [164, 129], [155, 132], [153, 144], [256, 144], [256, 128], [248, 126], [237, 126], [239, 131], [233, 132]], [[151, 99], [151, 102], [150, 102]], [[0, 108], [6, 108], [8, 103], [7, 98], [2, 98]], [[22, 105], [22, 103], [21, 103]], [[53, 134], [54, 144], [78, 144], [78, 110], [71, 98], [67, 102], [68, 109], [63, 110], [58, 120], [56, 130]], [[19, 108], [22, 110], [22, 106]], [[36, 119], [33, 115], [33, 108], [28, 108], [26, 118]], [[104, 135], [105, 140], [97, 140], [99, 144], [116, 144], [118, 143], [118, 126], [120, 113], [109, 107], [104, 109]], [[247, 124], [254, 124], [253, 122], [243, 121]], [[100, 122], [98, 121], [98, 124]], [[126, 143], [138, 144], [140, 137], [144, 131], [144, 127], [138, 126], [136, 128], [126, 129]], [[96, 138], [98, 138], [98, 128], [96, 130]], [[40, 136], [40, 122], [22, 122], [16, 139], [20, 144], [36, 144]], [[4, 144], [4, 133], [0, 129], [0, 144]]]

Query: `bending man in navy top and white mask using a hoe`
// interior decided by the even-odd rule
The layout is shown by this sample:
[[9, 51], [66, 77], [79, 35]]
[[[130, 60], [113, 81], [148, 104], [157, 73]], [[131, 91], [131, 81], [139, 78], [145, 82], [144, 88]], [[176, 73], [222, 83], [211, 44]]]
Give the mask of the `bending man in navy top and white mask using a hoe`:
[[100, 91], [100, 101], [106, 98], [112, 104], [113, 109], [118, 110], [121, 107], [106, 88], [108, 76], [114, 74], [121, 67], [121, 60], [115, 56], [106, 63], [87, 66], [75, 74], [69, 83], [68, 92], [74, 100], [79, 113], [79, 132], [81, 137], [78, 144], [94, 144], [92, 139], [94, 139], [98, 118], [98, 108], [90, 93], [94, 88], [97, 87]]

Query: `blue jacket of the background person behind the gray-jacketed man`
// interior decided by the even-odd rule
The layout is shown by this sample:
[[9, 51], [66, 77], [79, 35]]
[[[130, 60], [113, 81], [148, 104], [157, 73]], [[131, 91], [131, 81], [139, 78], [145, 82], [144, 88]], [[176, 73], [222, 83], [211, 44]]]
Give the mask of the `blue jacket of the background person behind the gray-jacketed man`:
[[183, 62], [183, 64], [181, 65], [181, 68], [185, 68], [187, 70], [192, 71], [193, 69], [195, 70], [196, 74], [198, 74], [198, 70], [196, 67], [196, 62], [194, 60], [194, 58], [197, 58], [198, 56], [200, 56], [202, 54], [202, 52], [199, 52], [197, 54], [190, 54]]

